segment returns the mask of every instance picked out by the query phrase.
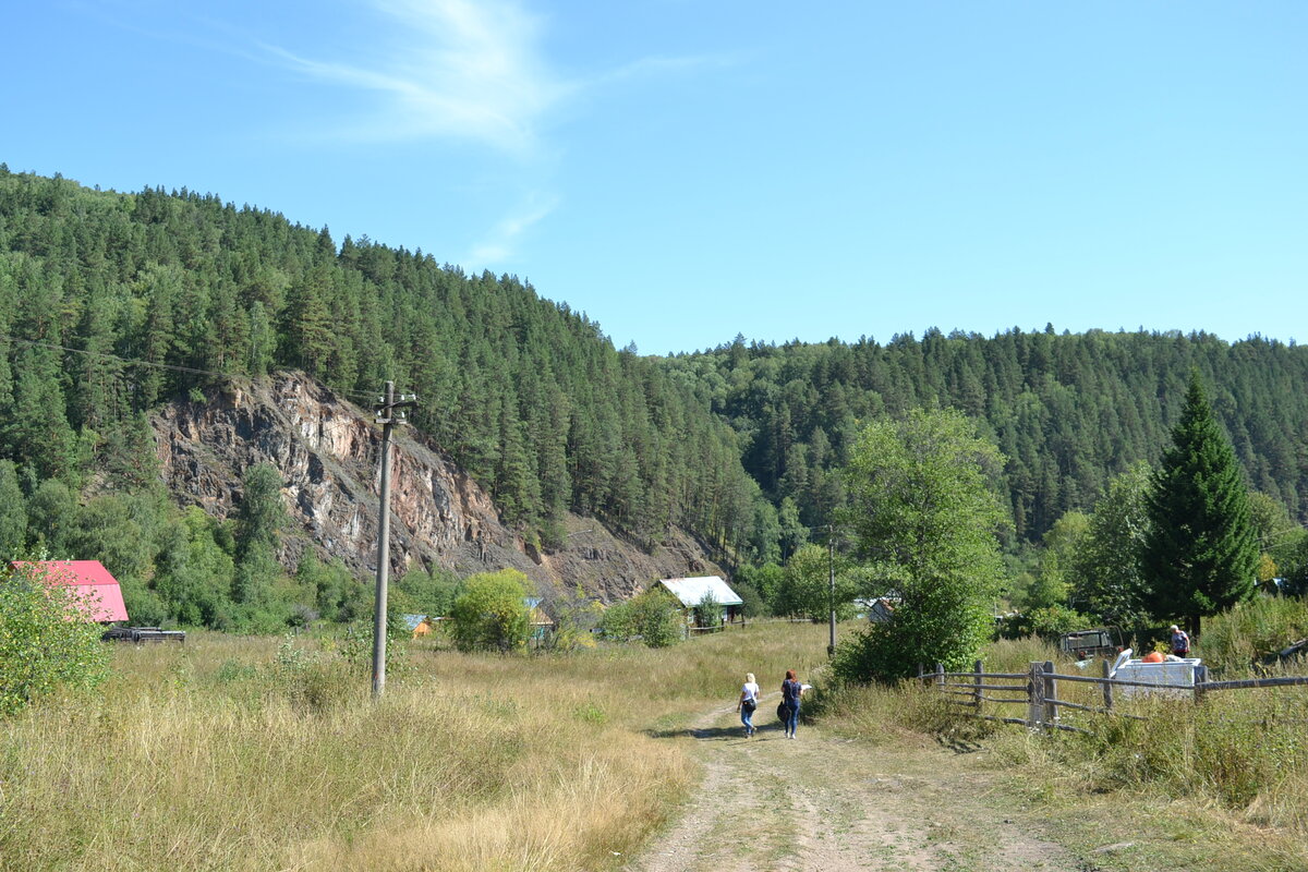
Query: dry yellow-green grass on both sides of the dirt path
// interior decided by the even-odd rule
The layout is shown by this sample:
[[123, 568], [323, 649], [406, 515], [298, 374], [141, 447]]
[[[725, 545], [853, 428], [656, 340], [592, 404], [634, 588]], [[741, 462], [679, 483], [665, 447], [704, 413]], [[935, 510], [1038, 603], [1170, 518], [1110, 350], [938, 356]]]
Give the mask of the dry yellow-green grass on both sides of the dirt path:
[[[1210, 631], [1237, 672], [1236, 634]], [[377, 703], [331, 641], [120, 646], [94, 696], [3, 724], [0, 868], [617, 868], [697, 782], [683, 727], [730, 706], [747, 671], [765, 692], [787, 668], [821, 686], [825, 637], [764, 624], [542, 656], [413, 643]], [[985, 658], [1002, 672], [1057, 660], [1031, 641]], [[980, 761], [1003, 784], [986, 803], [1095, 868], [1308, 868], [1308, 689], [1129, 703], [1141, 723], [1075, 715], [1090, 736], [964, 720], [914, 682], [814, 703], [861, 754]]]

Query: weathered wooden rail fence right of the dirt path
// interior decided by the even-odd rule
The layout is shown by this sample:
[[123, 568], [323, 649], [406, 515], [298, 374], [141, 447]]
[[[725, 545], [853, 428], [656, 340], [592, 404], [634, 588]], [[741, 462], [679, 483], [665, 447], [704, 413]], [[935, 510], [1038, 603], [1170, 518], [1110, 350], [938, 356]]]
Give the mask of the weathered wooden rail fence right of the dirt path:
[[[982, 672], [981, 660], [976, 662], [972, 672], [946, 672], [939, 663], [934, 672], [926, 672], [920, 664], [918, 677], [929, 681], [937, 690], [950, 697], [950, 702], [967, 706], [965, 713], [982, 720], [995, 720], [1001, 723], [1023, 724], [1028, 729], [1063, 729], [1069, 732], [1088, 733], [1088, 729], [1062, 723], [1063, 710], [1087, 711], [1093, 714], [1108, 714], [1118, 718], [1131, 718], [1146, 720], [1141, 715], [1121, 711], [1114, 706], [1116, 688], [1148, 688], [1151, 690], [1167, 690], [1173, 694], [1189, 694], [1194, 702], [1202, 702], [1205, 694], [1219, 690], [1243, 690], [1249, 688], [1288, 688], [1308, 685], [1308, 676], [1286, 676], [1277, 679], [1245, 679], [1239, 681], [1209, 681], [1207, 667], [1202, 663], [1194, 667], [1194, 685], [1160, 685], [1148, 681], [1129, 681], [1109, 676], [1112, 665], [1103, 662], [1104, 675], [1100, 677], [1087, 675], [1059, 675], [1054, 671], [1052, 660], [1032, 663], [1025, 672]], [[1103, 696], [1103, 703], [1097, 699], [1093, 705], [1071, 702], [1058, 696], [1058, 685], [1091, 684], [1097, 685]], [[1096, 694], [1097, 697], [1099, 694]], [[985, 714], [985, 703], [1020, 703], [1025, 705], [1025, 718], [1005, 718], [1001, 715]]]

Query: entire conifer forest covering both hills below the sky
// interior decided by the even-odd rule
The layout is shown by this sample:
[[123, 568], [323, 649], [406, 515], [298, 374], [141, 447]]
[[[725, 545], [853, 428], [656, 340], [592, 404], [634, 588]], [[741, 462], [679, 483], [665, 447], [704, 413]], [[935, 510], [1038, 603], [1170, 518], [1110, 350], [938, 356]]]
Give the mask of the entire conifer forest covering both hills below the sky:
[[930, 329], [640, 357], [511, 276], [337, 244], [211, 195], [0, 165], [0, 490], [25, 506], [9, 520], [0, 506], [0, 546], [58, 540], [69, 499], [157, 490], [145, 412], [276, 367], [362, 404], [387, 379], [417, 394], [413, 422], [545, 549], [570, 510], [637, 541], [689, 529], [732, 565], [785, 557], [842, 505], [857, 422], [920, 405], [981, 421], [1007, 456], [1018, 541], [1033, 541], [1158, 458], [1192, 367], [1252, 486], [1308, 515], [1301, 346]]

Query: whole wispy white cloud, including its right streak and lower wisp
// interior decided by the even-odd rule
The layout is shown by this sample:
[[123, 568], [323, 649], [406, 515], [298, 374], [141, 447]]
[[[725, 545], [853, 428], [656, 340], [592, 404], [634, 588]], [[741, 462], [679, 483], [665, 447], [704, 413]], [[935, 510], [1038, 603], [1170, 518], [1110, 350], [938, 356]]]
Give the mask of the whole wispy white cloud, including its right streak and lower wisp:
[[[568, 76], [551, 63], [543, 21], [523, 0], [369, 0], [390, 22], [385, 47], [349, 59], [260, 44], [266, 58], [313, 81], [377, 97], [354, 118], [332, 119], [331, 136], [368, 143], [464, 140], [543, 171], [556, 149], [543, 131], [561, 105], [633, 78], [723, 67], [726, 56], [650, 56], [607, 71]], [[573, 110], [576, 106], [572, 107]], [[317, 131], [315, 137], [323, 136]], [[526, 187], [526, 186], [525, 186]], [[466, 265], [502, 264], [557, 205], [539, 179], [489, 227]]]

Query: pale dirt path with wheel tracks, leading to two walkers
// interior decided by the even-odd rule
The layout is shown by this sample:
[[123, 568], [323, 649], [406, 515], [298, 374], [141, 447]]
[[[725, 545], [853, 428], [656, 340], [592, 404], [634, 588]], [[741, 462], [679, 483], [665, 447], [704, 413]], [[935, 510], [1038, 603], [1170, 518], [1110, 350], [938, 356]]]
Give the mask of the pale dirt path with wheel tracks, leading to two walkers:
[[806, 726], [786, 740], [772, 697], [752, 739], [734, 705], [683, 733], [704, 780], [627, 872], [1093, 868], [991, 809], [993, 777], [964, 757], [933, 745], [872, 748]]

